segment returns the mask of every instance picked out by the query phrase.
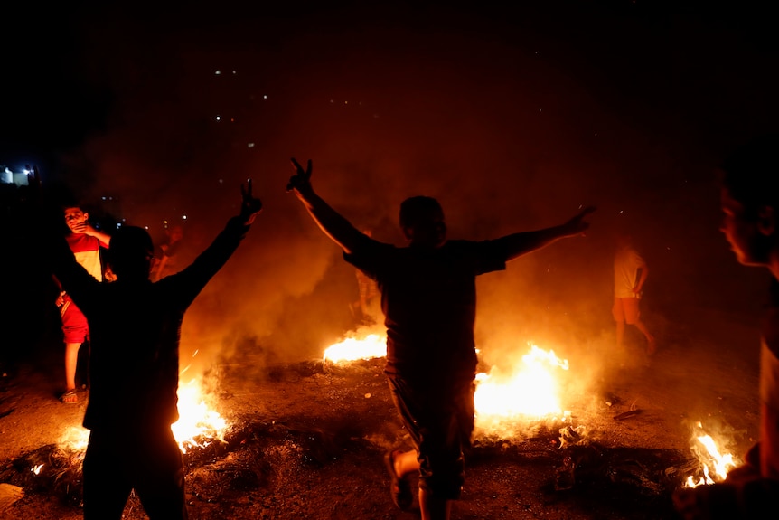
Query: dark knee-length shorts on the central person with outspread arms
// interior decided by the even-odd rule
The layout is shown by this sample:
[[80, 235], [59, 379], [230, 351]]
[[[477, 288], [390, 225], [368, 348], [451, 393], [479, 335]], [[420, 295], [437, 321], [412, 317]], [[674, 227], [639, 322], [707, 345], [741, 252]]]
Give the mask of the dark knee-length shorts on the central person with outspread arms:
[[411, 383], [387, 374], [392, 401], [411, 435], [419, 460], [419, 487], [446, 500], [460, 497], [465, 483], [464, 449], [474, 432], [473, 378], [455, 383]]

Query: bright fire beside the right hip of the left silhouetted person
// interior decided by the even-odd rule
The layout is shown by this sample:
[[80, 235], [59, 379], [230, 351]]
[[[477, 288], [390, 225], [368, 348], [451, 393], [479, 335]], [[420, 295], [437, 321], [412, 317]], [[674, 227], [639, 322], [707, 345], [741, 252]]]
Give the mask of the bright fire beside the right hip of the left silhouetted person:
[[185, 385], [179, 383], [178, 396], [179, 420], [171, 430], [182, 453], [192, 447], [205, 448], [213, 440], [224, 442], [227, 421], [206, 402], [200, 383], [195, 379]]

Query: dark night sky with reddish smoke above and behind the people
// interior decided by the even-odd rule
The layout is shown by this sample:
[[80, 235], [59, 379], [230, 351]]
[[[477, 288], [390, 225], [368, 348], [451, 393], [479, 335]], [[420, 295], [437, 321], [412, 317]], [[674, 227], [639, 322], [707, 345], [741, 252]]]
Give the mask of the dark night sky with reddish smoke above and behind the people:
[[155, 238], [186, 215], [206, 243], [251, 177], [265, 211], [192, 307], [183, 346], [249, 338], [294, 358], [349, 326], [353, 269], [285, 193], [290, 156], [397, 244], [414, 194], [438, 198], [466, 239], [596, 205], [587, 238], [480, 279], [488, 347], [604, 335], [622, 227], [650, 264], [655, 317], [759, 307], [767, 271], [739, 266], [718, 232], [714, 168], [779, 120], [767, 6], [108, 4], [3, 8], [0, 165], [38, 165], [44, 184]]

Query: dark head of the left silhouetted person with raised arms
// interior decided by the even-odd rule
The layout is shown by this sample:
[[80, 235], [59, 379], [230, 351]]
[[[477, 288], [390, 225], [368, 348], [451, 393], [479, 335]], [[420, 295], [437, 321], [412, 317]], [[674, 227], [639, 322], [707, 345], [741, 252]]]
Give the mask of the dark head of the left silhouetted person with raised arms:
[[108, 263], [117, 279], [145, 280], [149, 278], [155, 258], [152, 237], [143, 228], [127, 226], [111, 235]]

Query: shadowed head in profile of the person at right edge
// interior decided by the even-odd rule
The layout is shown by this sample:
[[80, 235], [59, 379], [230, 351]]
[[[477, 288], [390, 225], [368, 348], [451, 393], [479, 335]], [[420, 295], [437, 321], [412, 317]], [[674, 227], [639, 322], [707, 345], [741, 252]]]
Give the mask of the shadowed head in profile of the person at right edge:
[[739, 262], [767, 265], [779, 254], [779, 135], [756, 138], [720, 166], [725, 234]]

